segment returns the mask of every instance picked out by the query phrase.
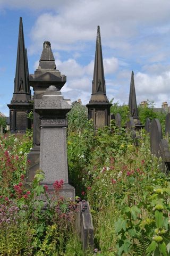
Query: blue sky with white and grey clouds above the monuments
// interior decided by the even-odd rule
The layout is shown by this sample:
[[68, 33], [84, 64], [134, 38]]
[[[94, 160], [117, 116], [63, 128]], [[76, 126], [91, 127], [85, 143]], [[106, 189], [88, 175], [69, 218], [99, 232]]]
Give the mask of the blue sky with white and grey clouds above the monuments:
[[0, 0], [0, 112], [9, 115], [20, 16], [29, 73], [50, 41], [65, 98], [90, 100], [99, 25], [108, 99], [128, 104], [133, 70], [138, 104], [170, 105], [169, 13], [169, 0]]

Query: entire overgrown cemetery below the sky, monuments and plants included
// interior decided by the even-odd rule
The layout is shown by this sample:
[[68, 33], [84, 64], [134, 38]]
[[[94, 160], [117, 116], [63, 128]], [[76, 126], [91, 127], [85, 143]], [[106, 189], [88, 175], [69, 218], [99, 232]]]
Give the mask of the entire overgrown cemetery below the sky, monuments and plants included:
[[133, 71], [129, 104], [108, 101], [99, 26], [89, 103], [64, 99], [65, 82], [48, 41], [29, 74], [20, 18], [10, 131], [0, 117], [0, 256], [170, 255], [168, 109], [137, 105]]

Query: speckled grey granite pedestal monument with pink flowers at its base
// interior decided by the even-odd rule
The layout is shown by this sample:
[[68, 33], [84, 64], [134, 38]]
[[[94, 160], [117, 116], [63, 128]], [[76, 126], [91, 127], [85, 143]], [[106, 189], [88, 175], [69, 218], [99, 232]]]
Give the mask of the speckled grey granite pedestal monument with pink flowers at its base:
[[61, 194], [74, 200], [75, 189], [68, 180], [66, 147], [66, 113], [71, 110], [71, 105], [55, 86], [49, 86], [42, 99], [35, 100], [34, 109], [40, 116], [40, 169], [45, 173], [43, 184], [50, 191], [56, 180], [63, 179]]

